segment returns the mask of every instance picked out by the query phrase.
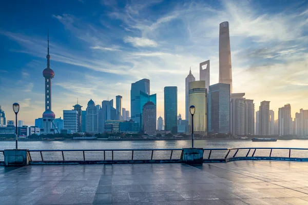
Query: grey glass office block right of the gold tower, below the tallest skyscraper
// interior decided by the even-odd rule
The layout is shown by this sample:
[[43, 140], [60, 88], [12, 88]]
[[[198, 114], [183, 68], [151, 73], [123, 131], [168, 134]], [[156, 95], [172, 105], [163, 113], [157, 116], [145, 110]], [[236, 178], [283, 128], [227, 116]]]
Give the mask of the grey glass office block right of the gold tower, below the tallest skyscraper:
[[[208, 132], [230, 132], [230, 85], [218, 83], [209, 86]], [[196, 109], [197, 111], [197, 109]]]

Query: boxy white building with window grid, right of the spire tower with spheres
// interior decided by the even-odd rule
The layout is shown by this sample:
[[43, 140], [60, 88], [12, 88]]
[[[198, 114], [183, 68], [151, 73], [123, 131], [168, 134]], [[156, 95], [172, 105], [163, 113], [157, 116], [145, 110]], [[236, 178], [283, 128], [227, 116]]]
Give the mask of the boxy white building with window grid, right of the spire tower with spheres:
[[63, 110], [63, 129], [70, 130], [71, 133], [79, 130], [79, 112], [77, 110]]

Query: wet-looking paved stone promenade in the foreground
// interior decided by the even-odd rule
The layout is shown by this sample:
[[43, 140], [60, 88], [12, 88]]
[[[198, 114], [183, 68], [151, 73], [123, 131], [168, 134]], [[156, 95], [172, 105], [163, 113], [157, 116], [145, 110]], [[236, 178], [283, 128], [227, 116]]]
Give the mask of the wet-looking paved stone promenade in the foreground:
[[308, 163], [0, 167], [0, 204], [308, 204]]

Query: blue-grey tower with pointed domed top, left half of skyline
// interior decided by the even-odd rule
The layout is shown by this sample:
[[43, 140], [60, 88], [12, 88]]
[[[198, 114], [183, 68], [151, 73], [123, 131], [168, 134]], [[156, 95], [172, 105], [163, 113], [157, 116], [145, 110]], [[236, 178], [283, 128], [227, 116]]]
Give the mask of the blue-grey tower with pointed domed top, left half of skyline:
[[92, 99], [88, 102], [86, 114], [86, 132], [98, 133], [98, 109]]

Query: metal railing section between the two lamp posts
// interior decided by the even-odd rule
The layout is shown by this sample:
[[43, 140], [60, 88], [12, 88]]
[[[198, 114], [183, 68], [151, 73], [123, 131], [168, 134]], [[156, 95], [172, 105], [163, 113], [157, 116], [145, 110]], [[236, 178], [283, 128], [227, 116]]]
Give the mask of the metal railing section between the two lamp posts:
[[179, 161], [183, 149], [29, 150], [31, 162]]

